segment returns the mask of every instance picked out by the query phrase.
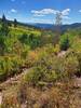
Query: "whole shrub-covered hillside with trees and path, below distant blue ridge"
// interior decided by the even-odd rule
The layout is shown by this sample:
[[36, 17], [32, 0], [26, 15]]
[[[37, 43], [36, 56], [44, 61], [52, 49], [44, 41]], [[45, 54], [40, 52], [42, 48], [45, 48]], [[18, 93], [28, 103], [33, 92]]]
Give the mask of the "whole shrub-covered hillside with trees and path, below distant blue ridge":
[[1, 108], [80, 108], [80, 28], [56, 33], [2, 16]]

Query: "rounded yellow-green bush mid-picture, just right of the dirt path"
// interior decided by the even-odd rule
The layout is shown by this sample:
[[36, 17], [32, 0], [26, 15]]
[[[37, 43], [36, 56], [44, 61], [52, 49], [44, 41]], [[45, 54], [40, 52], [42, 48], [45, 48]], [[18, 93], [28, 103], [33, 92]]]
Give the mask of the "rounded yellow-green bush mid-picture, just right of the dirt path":
[[38, 85], [40, 82], [54, 83], [63, 75], [63, 67], [59, 58], [45, 55], [40, 58], [32, 70], [26, 75], [26, 81], [29, 84]]

